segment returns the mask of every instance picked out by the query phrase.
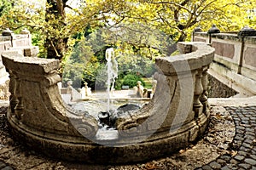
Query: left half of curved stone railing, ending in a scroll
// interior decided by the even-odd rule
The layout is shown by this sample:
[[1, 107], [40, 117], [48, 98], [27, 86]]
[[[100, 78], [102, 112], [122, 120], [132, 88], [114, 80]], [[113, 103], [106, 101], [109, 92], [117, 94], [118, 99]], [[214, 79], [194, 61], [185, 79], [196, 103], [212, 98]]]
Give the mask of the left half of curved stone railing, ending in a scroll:
[[9, 122], [16, 134], [25, 135], [28, 144], [40, 138], [46, 138], [45, 142], [84, 141], [77, 129], [87, 138], [96, 135], [96, 120], [86, 113], [78, 116], [62, 101], [58, 60], [23, 57], [16, 52], [4, 52], [2, 58], [10, 78]]

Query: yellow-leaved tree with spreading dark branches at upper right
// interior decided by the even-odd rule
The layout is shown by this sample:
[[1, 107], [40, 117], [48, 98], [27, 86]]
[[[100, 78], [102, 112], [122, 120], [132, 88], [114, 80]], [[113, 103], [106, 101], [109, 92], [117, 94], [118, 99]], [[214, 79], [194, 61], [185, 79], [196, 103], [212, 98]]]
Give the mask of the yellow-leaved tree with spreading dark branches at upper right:
[[[130, 10], [118, 13], [126, 22], [140, 22], [165, 32], [174, 41], [187, 40], [195, 26], [208, 29], [212, 24], [223, 31], [241, 29], [242, 24], [249, 24], [247, 7], [249, 4], [242, 0], [135, 0], [130, 1]], [[235, 23], [236, 26], [234, 26]], [[170, 47], [169, 53], [175, 48]]]

